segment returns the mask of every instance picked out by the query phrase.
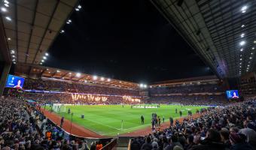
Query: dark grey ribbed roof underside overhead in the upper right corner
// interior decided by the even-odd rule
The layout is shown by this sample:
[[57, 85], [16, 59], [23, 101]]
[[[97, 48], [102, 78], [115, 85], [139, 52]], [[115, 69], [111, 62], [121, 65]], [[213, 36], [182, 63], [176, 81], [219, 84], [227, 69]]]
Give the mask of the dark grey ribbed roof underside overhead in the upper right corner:
[[256, 1], [151, 2], [218, 77], [255, 71]]

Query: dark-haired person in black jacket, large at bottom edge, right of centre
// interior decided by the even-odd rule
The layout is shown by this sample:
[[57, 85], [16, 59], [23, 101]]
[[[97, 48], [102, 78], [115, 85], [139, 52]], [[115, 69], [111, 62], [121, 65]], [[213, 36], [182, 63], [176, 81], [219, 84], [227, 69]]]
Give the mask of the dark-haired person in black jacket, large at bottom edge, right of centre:
[[204, 139], [200, 145], [194, 145], [190, 150], [225, 150], [225, 145], [221, 142], [221, 135], [217, 130], [210, 129], [206, 133], [206, 139]]

